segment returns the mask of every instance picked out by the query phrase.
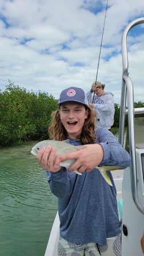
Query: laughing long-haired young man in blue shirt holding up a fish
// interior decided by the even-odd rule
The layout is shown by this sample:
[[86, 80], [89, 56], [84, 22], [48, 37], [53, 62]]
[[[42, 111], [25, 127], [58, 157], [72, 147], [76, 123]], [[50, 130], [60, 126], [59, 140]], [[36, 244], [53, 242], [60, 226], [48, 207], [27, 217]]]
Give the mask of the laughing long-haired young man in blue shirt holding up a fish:
[[[63, 90], [58, 105], [49, 128], [51, 138], [80, 146], [71, 152], [61, 147], [57, 153], [58, 147], [49, 145], [37, 155], [50, 189], [58, 197], [58, 255], [120, 256], [117, 193], [111, 172], [107, 173], [113, 186], [103, 179], [98, 168], [126, 168], [130, 156], [110, 131], [95, 127], [95, 112], [81, 88]], [[63, 167], [71, 159], [73, 162]]]

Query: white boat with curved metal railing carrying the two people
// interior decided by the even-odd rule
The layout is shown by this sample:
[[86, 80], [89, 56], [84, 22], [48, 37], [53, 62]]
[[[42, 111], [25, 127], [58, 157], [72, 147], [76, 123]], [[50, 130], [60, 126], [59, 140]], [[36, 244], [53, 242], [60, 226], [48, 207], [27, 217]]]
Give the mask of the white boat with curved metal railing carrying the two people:
[[[114, 178], [118, 194], [119, 220], [122, 226], [122, 256], [142, 256], [141, 238], [144, 234], [144, 108], [134, 108], [133, 82], [129, 76], [127, 35], [141, 23], [144, 17], [130, 22], [122, 34], [122, 90], [119, 118], [119, 143], [131, 156], [130, 167], [123, 171], [122, 178]], [[127, 105], [126, 105], [127, 103]], [[127, 140], [124, 141], [125, 116], [128, 116]], [[125, 145], [124, 145], [125, 144]], [[59, 217], [55, 216], [47, 243], [45, 256], [58, 255]]]

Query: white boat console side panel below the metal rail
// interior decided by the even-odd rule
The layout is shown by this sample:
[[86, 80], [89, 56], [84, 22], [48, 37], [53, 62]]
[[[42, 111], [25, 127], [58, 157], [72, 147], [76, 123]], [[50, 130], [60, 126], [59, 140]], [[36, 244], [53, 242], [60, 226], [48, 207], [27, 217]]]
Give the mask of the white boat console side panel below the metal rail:
[[[144, 149], [137, 149], [137, 178], [138, 178], [138, 198], [144, 205], [143, 196], [143, 171], [141, 153]], [[123, 174], [123, 210], [122, 226], [125, 225], [127, 235], [122, 231], [122, 256], [142, 256], [141, 238], [144, 234], [144, 215], [135, 206], [131, 192], [130, 168], [126, 168]]]

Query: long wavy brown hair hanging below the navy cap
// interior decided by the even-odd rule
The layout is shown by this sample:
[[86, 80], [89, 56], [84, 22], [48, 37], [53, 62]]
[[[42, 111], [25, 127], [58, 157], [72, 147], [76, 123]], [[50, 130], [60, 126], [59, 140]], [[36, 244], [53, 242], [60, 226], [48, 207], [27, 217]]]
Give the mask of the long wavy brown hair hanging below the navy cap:
[[[61, 105], [59, 106], [61, 108]], [[87, 108], [89, 113], [87, 116], [87, 119], [85, 119], [85, 123], [83, 124], [82, 133], [80, 139], [81, 144], [93, 144], [95, 142], [95, 120], [96, 120], [96, 113], [93, 109]], [[59, 110], [52, 113], [52, 121], [51, 125], [49, 127], [49, 135], [50, 139], [55, 140], [66, 140], [67, 139], [67, 131], [65, 127], [62, 124], [62, 121], [60, 119]]]

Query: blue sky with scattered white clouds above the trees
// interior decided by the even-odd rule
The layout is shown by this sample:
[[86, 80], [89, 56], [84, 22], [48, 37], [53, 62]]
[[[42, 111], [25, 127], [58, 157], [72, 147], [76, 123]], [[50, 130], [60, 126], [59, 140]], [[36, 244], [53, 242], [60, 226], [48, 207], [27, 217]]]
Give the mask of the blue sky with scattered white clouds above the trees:
[[[125, 27], [144, 17], [143, 0], [0, 0], [0, 88], [9, 80], [58, 99], [62, 89], [87, 92], [97, 81], [120, 103], [121, 38]], [[106, 14], [106, 19], [105, 19]], [[127, 38], [134, 100], [144, 101], [144, 24]]]

